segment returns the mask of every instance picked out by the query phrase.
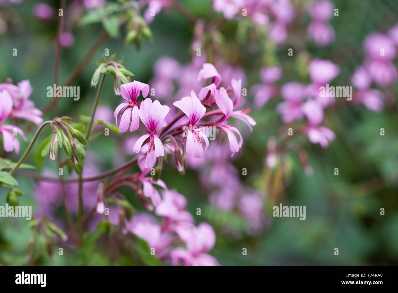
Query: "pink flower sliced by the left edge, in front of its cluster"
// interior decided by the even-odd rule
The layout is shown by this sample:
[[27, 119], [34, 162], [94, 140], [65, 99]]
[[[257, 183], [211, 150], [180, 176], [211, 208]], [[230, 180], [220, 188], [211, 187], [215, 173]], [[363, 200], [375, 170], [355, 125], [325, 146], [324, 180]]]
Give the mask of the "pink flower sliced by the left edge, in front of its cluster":
[[16, 136], [12, 132], [20, 134], [23, 140], [26, 141], [26, 137], [22, 130], [14, 125], [3, 125], [2, 123], [6, 120], [12, 111], [12, 98], [8, 91], [0, 90], [0, 132], [3, 135], [3, 147], [7, 152], [13, 151], [15, 149], [16, 153], [20, 151], [20, 143], [18, 142]]

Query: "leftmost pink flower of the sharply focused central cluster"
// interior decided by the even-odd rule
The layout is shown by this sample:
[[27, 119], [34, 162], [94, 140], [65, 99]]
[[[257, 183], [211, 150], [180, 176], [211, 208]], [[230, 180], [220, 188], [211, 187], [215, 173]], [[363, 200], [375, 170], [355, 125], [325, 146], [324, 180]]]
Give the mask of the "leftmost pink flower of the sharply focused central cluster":
[[149, 92], [149, 85], [146, 83], [140, 83], [139, 81], [133, 81], [132, 83], [125, 83], [121, 85], [121, 95], [126, 102], [121, 103], [116, 107], [115, 113], [113, 114], [117, 124], [117, 114], [122, 110], [121, 120], [119, 125], [119, 131], [125, 132], [130, 125], [130, 131], [133, 132], [140, 126], [140, 115], [137, 98], [142, 93], [142, 96], [146, 98]]

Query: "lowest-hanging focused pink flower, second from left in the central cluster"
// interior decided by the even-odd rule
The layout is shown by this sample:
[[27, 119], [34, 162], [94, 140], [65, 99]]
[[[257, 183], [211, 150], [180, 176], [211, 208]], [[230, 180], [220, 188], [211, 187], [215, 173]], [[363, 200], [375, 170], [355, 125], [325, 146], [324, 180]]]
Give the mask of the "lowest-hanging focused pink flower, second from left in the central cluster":
[[158, 100], [152, 103], [150, 98], [146, 98], [141, 102], [140, 118], [148, 130], [134, 144], [133, 151], [139, 153], [142, 144], [149, 138], [149, 146], [144, 163], [146, 168], [151, 168], [154, 165], [155, 155], [156, 157], [164, 155], [164, 148], [158, 137], [159, 132], [156, 128], [164, 120], [169, 110], [168, 106], [162, 106]]

